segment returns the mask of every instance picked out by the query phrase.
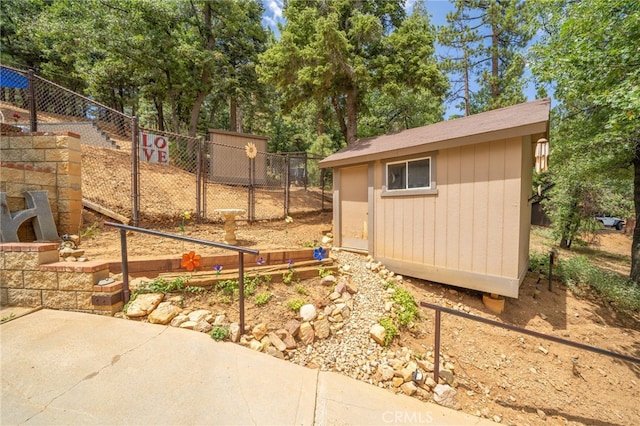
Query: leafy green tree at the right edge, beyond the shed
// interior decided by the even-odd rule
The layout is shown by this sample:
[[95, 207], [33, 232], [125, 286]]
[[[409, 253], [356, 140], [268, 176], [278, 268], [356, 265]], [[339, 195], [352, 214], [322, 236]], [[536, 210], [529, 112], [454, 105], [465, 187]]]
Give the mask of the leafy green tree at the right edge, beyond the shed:
[[[640, 210], [640, 188], [633, 184], [633, 169], [640, 169], [640, 50], [634, 43], [640, 38], [640, 9], [635, 0], [538, 6], [547, 34], [533, 47], [531, 63], [539, 81], [553, 87], [558, 104], [551, 137], [557, 189], [549, 206], [558, 219], [554, 227], [566, 239], [589, 216], [585, 211], [600, 209], [593, 200], [602, 195], [591, 194], [600, 185], [611, 194], [605, 204], [615, 206], [613, 200], [626, 192]], [[631, 277], [640, 283], [638, 253], [636, 242]]]

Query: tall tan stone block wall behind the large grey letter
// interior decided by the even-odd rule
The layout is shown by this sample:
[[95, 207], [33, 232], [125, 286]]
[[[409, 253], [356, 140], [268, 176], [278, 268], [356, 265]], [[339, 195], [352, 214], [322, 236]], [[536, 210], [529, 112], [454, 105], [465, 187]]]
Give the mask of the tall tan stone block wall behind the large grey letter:
[[[12, 212], [26, 208], [26, 190], [48, 191], [58, 234], [77, 234], [82, 219], [80, 136], [71, 132], [0, 134], [0, 192]], [[34, 241], [31, 226], [18, 230], [20, 241]]]

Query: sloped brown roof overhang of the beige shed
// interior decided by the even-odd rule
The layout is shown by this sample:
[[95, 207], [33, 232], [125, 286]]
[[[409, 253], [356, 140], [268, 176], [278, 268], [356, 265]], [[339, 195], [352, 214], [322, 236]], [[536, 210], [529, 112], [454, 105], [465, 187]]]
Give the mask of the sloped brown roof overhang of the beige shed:
[[320, 167], [348, 166], [446, 148], [532, 135], [548, 139], [551, 100], [539, 99], [449, 121], [360, 139], [320, 161]]

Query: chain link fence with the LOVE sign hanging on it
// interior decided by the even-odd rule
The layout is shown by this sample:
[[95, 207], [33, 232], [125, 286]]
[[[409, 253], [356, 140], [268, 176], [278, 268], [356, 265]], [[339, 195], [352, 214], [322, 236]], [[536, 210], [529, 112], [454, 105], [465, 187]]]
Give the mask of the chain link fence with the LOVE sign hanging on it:
[[[136, 117], [32, 72], [0, 66], [0, 120], [23, 131], [78, 134], [85, 206], [134, 225], [180, 219], [219, 221], [239, 208], [248, 220], [331, 208], [331, 176], [307, 153], [257, 152], [139, 128]], [[242, 219], [242, 217], [241, 217]]]

